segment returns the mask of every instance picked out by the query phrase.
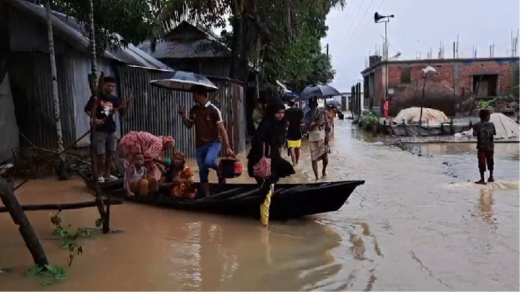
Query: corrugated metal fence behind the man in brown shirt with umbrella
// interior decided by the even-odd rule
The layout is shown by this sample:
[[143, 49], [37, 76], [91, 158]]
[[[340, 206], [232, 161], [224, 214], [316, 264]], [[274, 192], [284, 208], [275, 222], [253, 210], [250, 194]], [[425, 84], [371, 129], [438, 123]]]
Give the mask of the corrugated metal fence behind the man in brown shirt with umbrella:
[[[159, 136], [172, 136], [178, 150], [187, 157], [194, 157], [194, 129], [187, 129], [178, 115], [180, 105], [189, 110], [193, 105], [191, 93], [164, 90], [150, 85], [150, 80], [158, 79], [162, 73], [143, 68], [122, 66], [120, 72], [120, 91], [123, 96], [133, 93], [135, 99], [122, 117], [123, 133], [144, 131]], [[246, 149], [245, 105], [243, 87], [229, 80], [213, 81], [219, 87], [215, 98], [221, 108], [229, 140], [235, 152]], [[224, 147], [222, 149], [224, 154]]]

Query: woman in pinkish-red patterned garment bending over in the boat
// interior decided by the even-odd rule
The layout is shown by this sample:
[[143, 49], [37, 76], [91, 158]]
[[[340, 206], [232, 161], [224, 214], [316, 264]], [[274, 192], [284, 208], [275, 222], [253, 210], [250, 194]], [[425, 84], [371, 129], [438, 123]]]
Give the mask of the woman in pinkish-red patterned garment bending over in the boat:
[[132, 164], [135, 153], [141, 152], [144, 156], [144, 166], [147, 169], [147, 180], [158, 182], [162, 176], [162, 162], [159, 161], [162, 152], [174, 147], [173, 137], [158, 137], [149, 132], [129, 132], [120, 139], [120, 151]]

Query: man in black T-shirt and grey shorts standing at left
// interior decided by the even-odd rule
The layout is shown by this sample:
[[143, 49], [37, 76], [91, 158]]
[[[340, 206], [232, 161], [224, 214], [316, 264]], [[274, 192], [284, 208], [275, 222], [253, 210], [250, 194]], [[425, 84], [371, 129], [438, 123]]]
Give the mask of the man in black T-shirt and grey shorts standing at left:
[[[98, 182], [113, 181], [117, 177], [111, 176], [111, 161], [112, 154], [117, 149], [117, 142], [115, 137], [116, 123], [113, 119], [115, 109], [119, 108], [122, 102], [112, 95], [115, 90], [115, 78], [104, 77], [103, 78], [103, 95], [98, 97], [95, 116], [93, 117], [93, 123], [95, 124], [95, 130], [91, 131], [91, 154], [92, 162], [91, 169], [93, 170], [93, 180]], [[130, 98], [132, 95], [130, 95]], [[129, 102], [130, 98], [126, 100], [125, 104]], [[91, 110], [95, 97], [92, 95], [88, 102], [84, 106], [84, 112], [91, 117]], [[127, 106], [120, 107], [120, 112], [125, 113]], [[105, 165], [103, 165], [105, 164]], [[103, 176], [100, 176], [100, 172], [103, 171]]]

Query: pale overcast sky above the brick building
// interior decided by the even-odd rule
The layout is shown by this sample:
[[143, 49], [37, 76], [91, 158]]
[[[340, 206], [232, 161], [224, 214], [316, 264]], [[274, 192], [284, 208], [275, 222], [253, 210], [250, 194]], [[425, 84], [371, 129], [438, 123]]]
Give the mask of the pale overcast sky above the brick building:
[[491, 43], [495, 56], [506, 56], [511, 30], [515, 36], [519, 28], [518, 0], [347, 0], [344, 10], [327, 16], [329, 33], [322, 41], [323, 46], [329, 43], [337, 70], [332, 86], [341, 92], [362, 78], [368, 53], [382, 48], [384, 24], [373, 23], [375, 11], [394, 14], [387, 26], [389, 56], [399, 51], [401, 59], [414, 59], [417, 51], [426, 58], [430, 47], [436, 58], [441, 42], [445, 57], [452, 58], [457, 34], [461, 58], [471, 57], [474, 45], [477, 57], [488, 57]]

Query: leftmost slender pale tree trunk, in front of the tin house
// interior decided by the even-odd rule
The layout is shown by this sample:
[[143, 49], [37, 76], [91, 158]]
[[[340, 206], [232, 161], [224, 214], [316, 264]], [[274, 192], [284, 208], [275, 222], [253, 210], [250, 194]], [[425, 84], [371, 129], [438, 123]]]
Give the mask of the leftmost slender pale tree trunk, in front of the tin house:
[[[51, 0], [46, 1], [47, 38], [49, 43], [49, 60], [51, 60], [51, 90], [53, 92], [53, 105], [55, 107], [56, 140], [58, 153], [63, 152], [62, 120], [60, 116], [60, 100], [58, 98], [58, 81], [56, 77], [55, 42], [53, 38], [53, 22], [51, 20]], [[63, 154], [61, 154], [63, 160]]]

